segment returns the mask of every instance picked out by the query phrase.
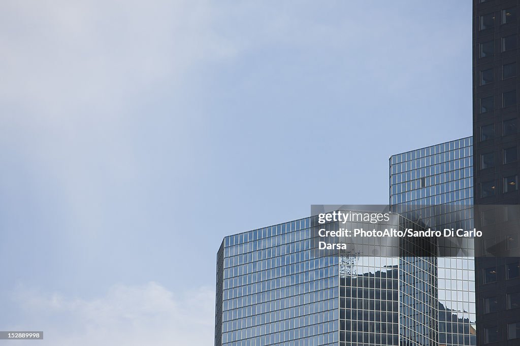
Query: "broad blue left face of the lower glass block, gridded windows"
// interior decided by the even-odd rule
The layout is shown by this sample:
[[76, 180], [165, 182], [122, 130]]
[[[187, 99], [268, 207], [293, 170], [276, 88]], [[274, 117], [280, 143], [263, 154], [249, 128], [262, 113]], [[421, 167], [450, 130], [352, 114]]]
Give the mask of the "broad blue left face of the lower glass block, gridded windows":
[[224, 238], [217, 345], [337, 345], [339, 258], [310, 237], [305, 218]]

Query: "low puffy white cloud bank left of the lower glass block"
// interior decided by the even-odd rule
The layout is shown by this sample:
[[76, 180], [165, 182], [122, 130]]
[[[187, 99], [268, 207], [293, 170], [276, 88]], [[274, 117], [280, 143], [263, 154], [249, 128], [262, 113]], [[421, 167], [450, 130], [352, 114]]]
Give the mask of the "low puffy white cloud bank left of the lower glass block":
[[175, 295], [150, 282], [114, 286], [94, 299], [22, 290], [16, 301], [28, 323], [44, 331], [42, 345], [202, 346], [213, 344], [214, 295], [206, 287]]

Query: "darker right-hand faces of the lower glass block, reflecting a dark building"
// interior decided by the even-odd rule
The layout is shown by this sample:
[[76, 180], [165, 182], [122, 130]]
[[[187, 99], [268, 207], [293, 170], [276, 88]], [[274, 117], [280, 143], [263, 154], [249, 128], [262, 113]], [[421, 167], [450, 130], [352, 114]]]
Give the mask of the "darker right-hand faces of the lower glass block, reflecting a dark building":
[[[417, 228], [402, 216], [398, 225], [401, 230]], [[385, 253], [384, 245], [380, 247], [378, 252]], [[400, 257], [360, 256], [355, 250], [341, 254], [340, 346], [437, 344], [435, 244], [401, 241], [399, 253]]]

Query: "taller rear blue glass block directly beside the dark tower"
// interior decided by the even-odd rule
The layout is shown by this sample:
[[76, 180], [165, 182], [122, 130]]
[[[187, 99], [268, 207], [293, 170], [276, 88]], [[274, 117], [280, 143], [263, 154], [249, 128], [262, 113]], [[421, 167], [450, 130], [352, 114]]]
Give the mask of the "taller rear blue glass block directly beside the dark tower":
[[[472, 143], [466, 137], [391, 156], [391, 210], [425, 228], [473, 229]], [[440, 256], [437, 266], [439, 344], [476, 345], [474, 257]]]

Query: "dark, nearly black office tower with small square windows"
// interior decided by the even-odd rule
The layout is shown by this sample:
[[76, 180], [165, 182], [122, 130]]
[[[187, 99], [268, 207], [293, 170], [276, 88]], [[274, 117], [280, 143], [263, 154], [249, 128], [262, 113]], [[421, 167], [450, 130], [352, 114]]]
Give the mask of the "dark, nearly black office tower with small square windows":
[[[473, 1], [475, 225], [484, 231], [484, 247], [489, 245], [486, 241], [493, 241], [497, 243], [495, 250], [503, 245], [503, 250], [516, 252], [518, 229], [510, 237], [496, 238], [502, 229], [518, 223], [518, 214], [509, 213], [504, 205], [520, 201], [519, 4], [511, 0]], [[494, 251], [492, 246], [489, 250]], [[520, 344], [519, 258], [500, 253], [476, 258], [478, 345]]]

